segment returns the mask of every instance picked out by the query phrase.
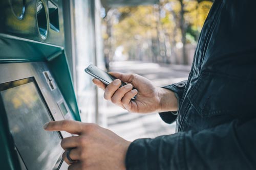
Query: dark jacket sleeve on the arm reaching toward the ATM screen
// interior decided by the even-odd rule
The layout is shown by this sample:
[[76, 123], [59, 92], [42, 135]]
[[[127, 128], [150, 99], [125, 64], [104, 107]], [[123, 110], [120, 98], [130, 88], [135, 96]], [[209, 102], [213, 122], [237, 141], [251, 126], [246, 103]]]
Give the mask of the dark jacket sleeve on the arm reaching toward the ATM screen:
[[200, 132], [137, 139], [126, 154], [127, 170], [255, 169], [256, 119]]

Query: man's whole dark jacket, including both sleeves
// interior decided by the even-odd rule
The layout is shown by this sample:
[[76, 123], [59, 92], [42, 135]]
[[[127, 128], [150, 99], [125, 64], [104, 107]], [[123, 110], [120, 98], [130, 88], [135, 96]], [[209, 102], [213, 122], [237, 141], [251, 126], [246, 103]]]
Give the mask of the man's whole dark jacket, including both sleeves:
[[165, 88], [177, 133], [132, 142], [127, 169], [256, 169], [256, 1], [216, 0], [188, 81]]

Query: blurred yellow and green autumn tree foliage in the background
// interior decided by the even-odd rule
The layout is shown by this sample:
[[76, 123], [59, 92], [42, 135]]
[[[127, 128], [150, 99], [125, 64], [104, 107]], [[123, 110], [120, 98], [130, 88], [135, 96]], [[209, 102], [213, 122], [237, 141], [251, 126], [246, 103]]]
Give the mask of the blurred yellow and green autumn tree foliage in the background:
[[146, 55], [154, 57], [182, 42], [182, 29], [186, 43], [196, 43], [211, 5], [211, 1], [160, 0], [159, 5], [118, 8], [111, 17], [112, 48], [122, 45], [130, 53], [147, 46], [154, 50]]

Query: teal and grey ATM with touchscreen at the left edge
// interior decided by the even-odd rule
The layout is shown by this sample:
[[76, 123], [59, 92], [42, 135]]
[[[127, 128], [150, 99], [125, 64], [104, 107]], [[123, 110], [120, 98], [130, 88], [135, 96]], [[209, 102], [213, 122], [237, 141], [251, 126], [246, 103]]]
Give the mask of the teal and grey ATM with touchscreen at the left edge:
[[62, 1], [0, 1], [0, 169], [67, 169], [51, 120], [80, 120]]

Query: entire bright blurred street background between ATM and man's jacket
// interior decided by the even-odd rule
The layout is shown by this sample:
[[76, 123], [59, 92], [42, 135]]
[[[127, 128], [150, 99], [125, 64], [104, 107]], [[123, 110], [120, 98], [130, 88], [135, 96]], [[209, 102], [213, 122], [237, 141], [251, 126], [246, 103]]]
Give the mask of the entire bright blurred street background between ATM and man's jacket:
[[[82, 122], [109, 128], [127, 140], [172, 134], [156, 114], [137, 114], [103, 99], [89, 64], [136, 73], [164, 86], [186, 80], [213, 0], [73, 0], [69, 58]], [[71, 54], [72, 52], [72, 54]]]

